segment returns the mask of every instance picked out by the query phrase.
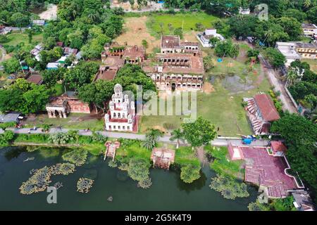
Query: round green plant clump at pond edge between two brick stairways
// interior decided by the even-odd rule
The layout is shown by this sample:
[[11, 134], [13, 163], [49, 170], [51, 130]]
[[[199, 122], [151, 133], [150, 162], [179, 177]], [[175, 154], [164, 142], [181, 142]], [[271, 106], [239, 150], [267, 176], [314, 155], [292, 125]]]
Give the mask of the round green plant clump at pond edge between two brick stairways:
[[149, 163], [140, 158], [130, 159], [128, 174], [135, 181], [147, 179], [149, 177]]

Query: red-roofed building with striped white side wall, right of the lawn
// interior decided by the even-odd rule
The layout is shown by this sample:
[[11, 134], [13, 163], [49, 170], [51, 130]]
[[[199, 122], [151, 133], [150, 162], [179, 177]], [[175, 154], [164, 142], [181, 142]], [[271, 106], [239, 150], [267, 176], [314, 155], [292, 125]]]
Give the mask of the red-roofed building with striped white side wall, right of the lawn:
[[254, 98], [244, 98], [244, 101], [254, 134], [269, 134], [271, 122], [280, 119], [271, 98], [267, 94], [257, 94]]

